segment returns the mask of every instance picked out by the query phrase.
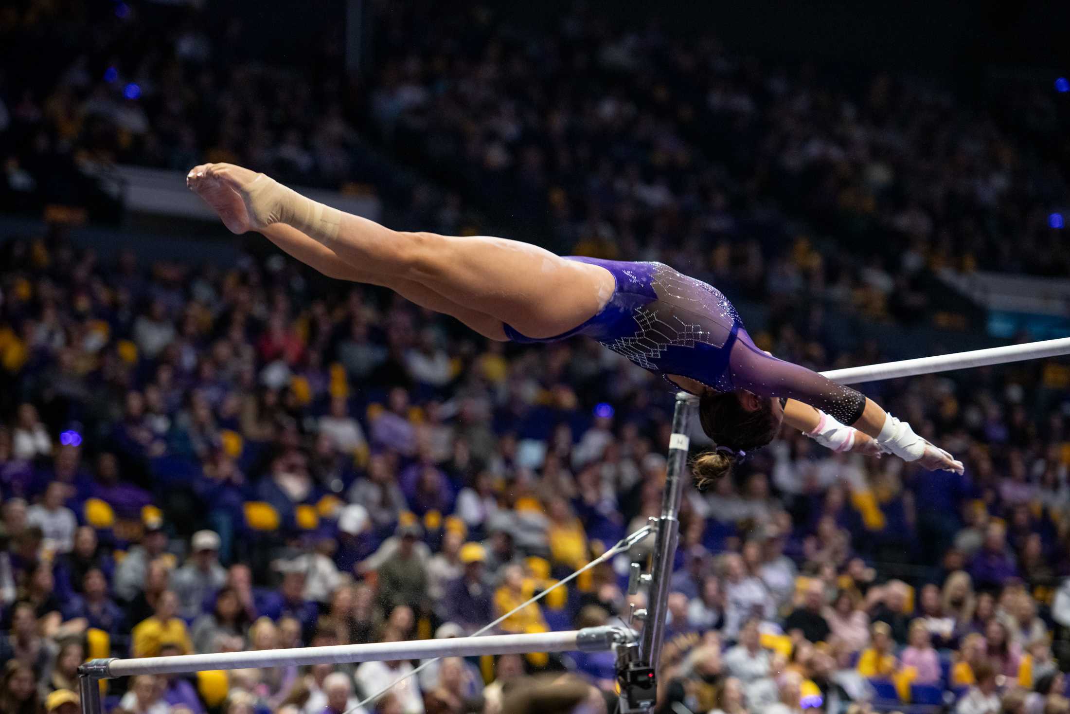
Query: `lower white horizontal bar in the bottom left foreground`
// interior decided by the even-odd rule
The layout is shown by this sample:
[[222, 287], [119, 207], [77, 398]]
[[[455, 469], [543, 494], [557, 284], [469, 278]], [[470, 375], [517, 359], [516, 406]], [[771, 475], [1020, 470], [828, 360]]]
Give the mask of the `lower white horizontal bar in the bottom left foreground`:
[[371, 644], [333, 644], [289, 650], [186, 654], [139, 659], [93, 659], [79, 668], [83, 677], [103, 680], [138, 674], [183, 674], [214, 669], [246, 669], [303, 665], [427, 657], [469, 657], [484, 654], [526, 654], [529, 652], [598, 652], [632, 635], [621, 627], [586, 627], [557, 633], [489, 635], [447, 639], [376, 642]]

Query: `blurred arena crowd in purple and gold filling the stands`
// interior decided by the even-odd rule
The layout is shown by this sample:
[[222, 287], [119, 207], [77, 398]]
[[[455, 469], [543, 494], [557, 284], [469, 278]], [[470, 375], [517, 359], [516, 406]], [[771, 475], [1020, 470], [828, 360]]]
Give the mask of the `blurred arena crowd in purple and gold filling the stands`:
[[[934, 268], [1065, 273], [1043, 209], [1065, 186], [1031, 145], [1054, 108], [1025, 131], [938, 87], [869, 77], [852, 93], [712, 39], [682, 50], [578, 14], [540, 43], [492, 14], [459, 28], [429, 4], [417, 10], [437, 21], [418, 33], [416, 11], [383, 11], [382, 73], [334, 106], [330, 78], [235, 62], [215, 35], [240, 28], [196, 15], [142, 54], [129, 40], [142, 20], [118, 5], [81, 18], [96, 49], [64, 35], [61, 71], [0, 91], [5, 197], [64, 162], [239, 161], [339, 185], [367, 132], [450, 166], [463, 188], [418, 184], [392, 209], [406, 227], [477, 229], [468, 196], [483, 194], [547, 222], [565, 249], [806, 301], [775, 309], [756, 339], [821, 368], [881, 361], [829, 322], [917, 320]], [[78, 16], [28, 2], [2, 18], [4, 36], [40, 37]], [[799, 222], [836, 238], [804, 238]], [[869, 234], [893, 252], [858, 264], [835, 249]], [[4, 238], [0, 714], [72, 714], [90, 656], [471, 634], [658, 510], [671, 393], [593, 343], [487, 343], [278, 256], [102, 260], [62, 231]], [[689, 493], [660, 711], [1070, 711], [1070, 371], [1023, 363], [868, 389], [965, 475], [785, 431]], [[624, 592], [627, 565], [652, 545], [501, 632], [627, 621], [642, 605]], [[343, 714], [413, 666], [136, 678], [110, 682], [106, 703]], [[612, 711], [612, 679], [603, 655], [445, 659], [366, 708], [570, 711], [597, 689]]]

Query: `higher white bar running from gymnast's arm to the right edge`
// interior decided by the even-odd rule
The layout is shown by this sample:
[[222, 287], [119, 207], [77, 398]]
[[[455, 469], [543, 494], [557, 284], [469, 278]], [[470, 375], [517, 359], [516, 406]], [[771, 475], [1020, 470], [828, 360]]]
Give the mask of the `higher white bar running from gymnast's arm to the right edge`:
[[839, 382], [840, 384], [860, 384], [862, 382], [875, 382], [881, 379], [916, 377], [917, 375], [929, 375], [935, 371], [950, 371], [952, 369], [966, 369], [968, 367], [987, 367], [993, 364], [1039, 360], [1049, 356], [1059, 356], [1060, 354], [1070, 354], [1070, 337], [1044, 339], [1039, 343], [1025, 343], [1024, 345], [990, 347], [988, 349], [972, 350], [969, 352], [935, 354], [933, 356], [918, 358], [916, 360], [885, 362], [883, 364], [871, 364], [863, 367], [831, 369], [821, 374], [828, 377], [834, 382]]

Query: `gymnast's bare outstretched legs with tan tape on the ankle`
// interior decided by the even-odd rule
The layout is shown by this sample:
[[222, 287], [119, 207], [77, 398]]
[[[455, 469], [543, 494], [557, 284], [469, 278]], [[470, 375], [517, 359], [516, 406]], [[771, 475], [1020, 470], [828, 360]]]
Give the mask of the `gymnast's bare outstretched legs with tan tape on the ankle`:
[[199, 186], [216, 180], [245, 208], [244, 215], [220, 212], [231, 231], [259, 230], [278, 242], [273, 236], [278, 229], [272, 227], [291, 226], [354, 270], [349, 279], [384, 285], [406, 297], [407, 287], [422, 286], [449, 305], [489, 315], [529, 337], [551, 337], [579, 325], [613, 291], [613, 276], [603, 268], [565, 260], [526, 243], [391, 230], [231, 164], [199, 166], [188, 177], [190, 187], [202, 196]]

